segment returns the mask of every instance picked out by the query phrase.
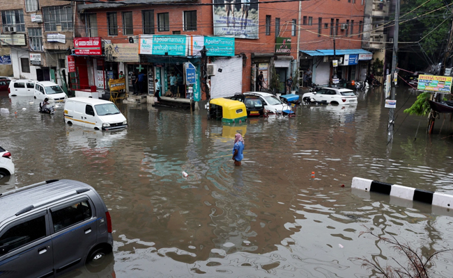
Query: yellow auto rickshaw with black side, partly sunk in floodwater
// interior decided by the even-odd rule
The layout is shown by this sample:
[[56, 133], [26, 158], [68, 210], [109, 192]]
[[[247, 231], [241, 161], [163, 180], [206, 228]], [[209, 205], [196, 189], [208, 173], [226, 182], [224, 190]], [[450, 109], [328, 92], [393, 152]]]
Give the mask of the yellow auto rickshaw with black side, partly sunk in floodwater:
[[222, 119], [222, 122], [227, 123], [240, 123], [247, 120], [247, 111], [242, 102], [220, 97], [209, 101], [208, 118]]

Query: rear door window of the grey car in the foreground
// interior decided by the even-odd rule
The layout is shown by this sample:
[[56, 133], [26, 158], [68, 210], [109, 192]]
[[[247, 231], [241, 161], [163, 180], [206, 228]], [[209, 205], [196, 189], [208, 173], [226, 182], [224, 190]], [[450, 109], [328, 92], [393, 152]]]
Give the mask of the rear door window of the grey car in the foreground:
[[[92, 106], [90, 107], [93, 109]], [[78, 202], [77, 204], [72, 204], [65, 208], [52, 211], [52, 222], [54, 224], [55, 233], [90, 218], [91, 208], [88, 201]]]

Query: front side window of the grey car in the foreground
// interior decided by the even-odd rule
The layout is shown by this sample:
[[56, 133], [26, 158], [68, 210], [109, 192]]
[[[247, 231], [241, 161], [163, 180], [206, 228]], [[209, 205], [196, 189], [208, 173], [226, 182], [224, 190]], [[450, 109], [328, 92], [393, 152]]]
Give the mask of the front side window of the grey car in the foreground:
[[0, 237], [0, 256], [45, 236], [44, 215], [10, 227]]

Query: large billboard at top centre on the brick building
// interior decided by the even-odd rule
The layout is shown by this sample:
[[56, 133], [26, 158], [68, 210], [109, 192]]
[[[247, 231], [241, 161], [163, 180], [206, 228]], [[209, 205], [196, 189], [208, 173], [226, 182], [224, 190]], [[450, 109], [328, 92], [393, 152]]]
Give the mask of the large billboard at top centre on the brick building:
[[[236, 3], [238, 5], [235, 5]], [[213, 0], [213, 4], [214, 35], [244, 39], [259, 38], [258, 0], [239, 2]]]

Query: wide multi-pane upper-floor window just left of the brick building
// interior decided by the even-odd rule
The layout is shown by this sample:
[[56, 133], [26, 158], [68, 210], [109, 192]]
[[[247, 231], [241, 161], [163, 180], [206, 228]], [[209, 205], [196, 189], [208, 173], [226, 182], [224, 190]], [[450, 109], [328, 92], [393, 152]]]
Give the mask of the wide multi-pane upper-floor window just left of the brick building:
[[44, 31], [72, 31], [70, 6], [43, 8]]

